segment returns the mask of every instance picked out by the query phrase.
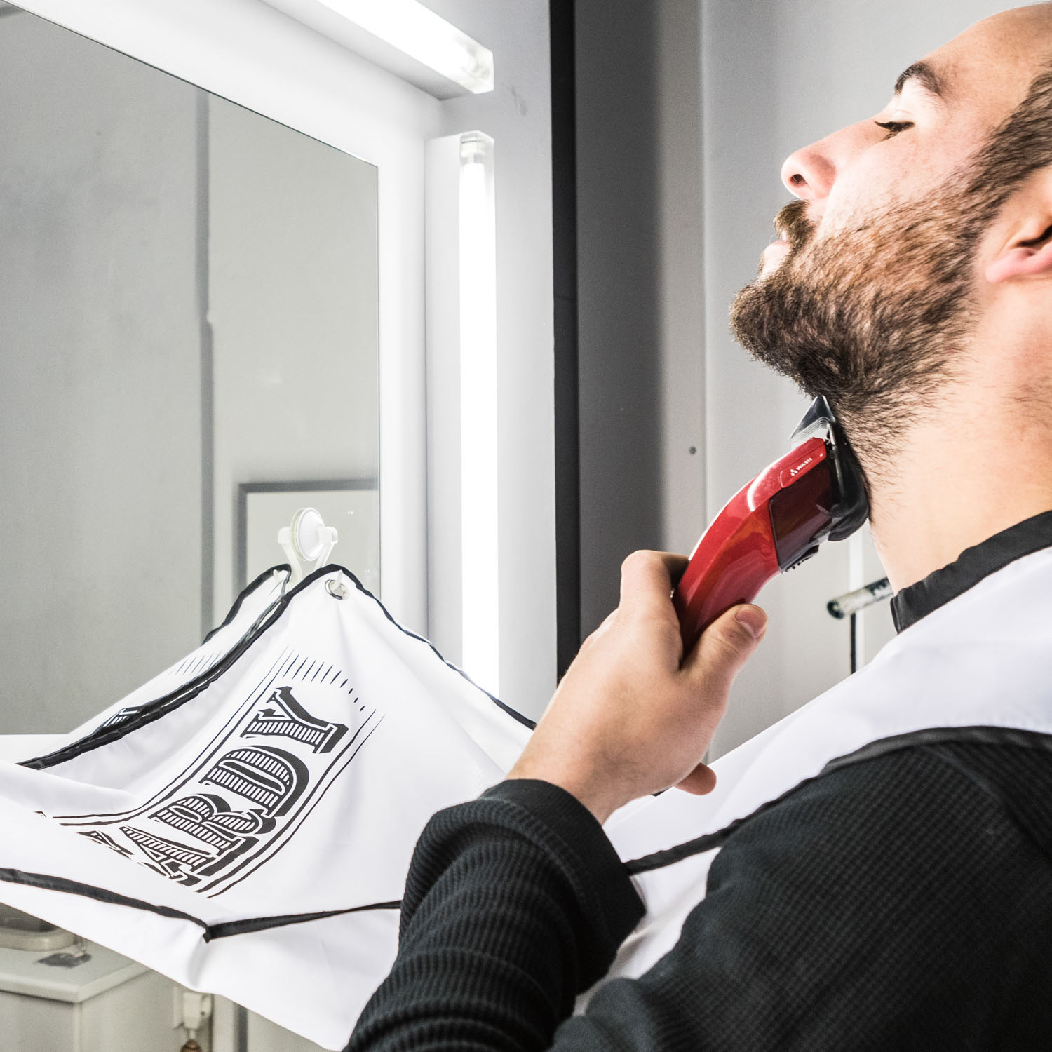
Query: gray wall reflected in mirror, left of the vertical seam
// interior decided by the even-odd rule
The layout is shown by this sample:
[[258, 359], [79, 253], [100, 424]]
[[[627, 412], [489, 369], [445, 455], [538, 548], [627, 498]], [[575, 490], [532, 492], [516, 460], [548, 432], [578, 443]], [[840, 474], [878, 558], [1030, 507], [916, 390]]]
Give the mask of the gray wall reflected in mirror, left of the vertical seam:
[[68, 730], [199, 640], [194, 96], [0, 19], [4, 732]]

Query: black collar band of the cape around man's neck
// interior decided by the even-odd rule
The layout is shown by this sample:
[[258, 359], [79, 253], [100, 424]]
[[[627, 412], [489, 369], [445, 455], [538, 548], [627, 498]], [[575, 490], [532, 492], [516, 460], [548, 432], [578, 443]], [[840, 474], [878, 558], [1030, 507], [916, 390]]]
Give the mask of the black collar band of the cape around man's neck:
[[1052, 547], [1052, 511], [1043, 511], [994, 533], [974, 548], [966, 548], [949, 566], [895, 595], [891, 601], [895, 630], [909, 628], [1009, 563], [1048, 547]]

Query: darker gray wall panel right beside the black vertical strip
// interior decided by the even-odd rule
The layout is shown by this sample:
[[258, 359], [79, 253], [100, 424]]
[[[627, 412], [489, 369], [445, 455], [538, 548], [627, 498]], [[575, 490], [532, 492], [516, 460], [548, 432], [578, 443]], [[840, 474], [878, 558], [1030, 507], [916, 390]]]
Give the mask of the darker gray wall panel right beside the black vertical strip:
[[704, 522], [700, 9], [578, 0], [581, 620]]

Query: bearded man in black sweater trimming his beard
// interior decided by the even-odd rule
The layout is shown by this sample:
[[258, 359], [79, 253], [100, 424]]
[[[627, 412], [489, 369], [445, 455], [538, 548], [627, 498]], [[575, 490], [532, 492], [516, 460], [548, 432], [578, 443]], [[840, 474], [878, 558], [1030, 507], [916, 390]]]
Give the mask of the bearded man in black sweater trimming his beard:
[[[901, 634], [742, 747], [705, 797], [733, 821], [626, 866], [601, 824], [713, 789], [765, 625], [734, 608], [683, 654], [684, 561], [630, 557], [508, 780], [425, 830], [351, 1049], [1052, 1048], [1052, 5], [783, 178], [733, 327], [838, 416]], [[638, 813], [671, 829], [676, 800]]]

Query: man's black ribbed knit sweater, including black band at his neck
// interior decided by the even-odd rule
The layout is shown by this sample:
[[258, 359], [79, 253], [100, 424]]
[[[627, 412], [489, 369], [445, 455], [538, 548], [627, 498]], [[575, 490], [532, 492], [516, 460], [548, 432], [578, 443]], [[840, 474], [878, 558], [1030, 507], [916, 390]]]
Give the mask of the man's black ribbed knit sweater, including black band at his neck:
[[[1006, 537], [1012, 558], [1035, 550], [1035, 529], [1052, 543], [1052, 514], [927, 579], [901, 627], [1011, 561]], [[742, 824], [675, 947], [579, 1016], [643, 912], [600, 825], [543, 782], [439, 813], [348, 1048], [1052, 1049], [1050, 740], [925, 741]]]

